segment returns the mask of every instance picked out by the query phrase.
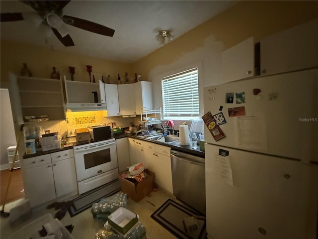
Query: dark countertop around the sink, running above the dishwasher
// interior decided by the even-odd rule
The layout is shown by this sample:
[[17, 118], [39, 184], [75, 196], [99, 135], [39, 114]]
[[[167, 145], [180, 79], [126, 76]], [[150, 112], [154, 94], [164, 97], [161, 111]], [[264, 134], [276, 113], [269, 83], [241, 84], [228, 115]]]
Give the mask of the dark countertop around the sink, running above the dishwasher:
[[165, 143], [165, 142], [160, 142], [160, 141], [156, 141], [156, 140], [152, 140], [152, 139], [138, 137], [137, 135], [131, 135], [131, 134], [127, 134], [127, 137], [142, 139], [142, 140], [149, 141], [152, 143], [158, 143], [158, 144], [161, 144], [163, 146], [170, 147], [172, 150], [176, 150], [176, 151], [180, 151], [180, 152], [184, 152], [184, 153], [189, 153], [189, 154], [204, 158], [204, 151], [200, 150], [199, 145], [198, 145], [197, 149], [193, 149], [192, 145], [180, 145], [179, 141], [172, 142], [172, 143]]

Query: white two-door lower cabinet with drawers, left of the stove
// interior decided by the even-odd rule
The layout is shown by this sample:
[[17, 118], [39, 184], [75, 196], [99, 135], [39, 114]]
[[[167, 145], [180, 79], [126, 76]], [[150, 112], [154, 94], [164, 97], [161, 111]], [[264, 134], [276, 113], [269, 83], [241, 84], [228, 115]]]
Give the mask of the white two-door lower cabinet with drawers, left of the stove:
[[31, 207], [77, 194], [73, 149], [23, 159], [24, 188]]

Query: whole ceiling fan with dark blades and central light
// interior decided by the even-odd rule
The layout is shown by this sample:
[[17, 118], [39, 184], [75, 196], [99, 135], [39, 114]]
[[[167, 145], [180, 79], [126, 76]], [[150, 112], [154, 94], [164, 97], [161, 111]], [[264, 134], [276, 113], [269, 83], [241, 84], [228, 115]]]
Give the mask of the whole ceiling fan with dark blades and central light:
[[[75, 45], [64, 23], [105, 36], [114, 35], [115, 30], [109, 27], [74, 16], [63, 15], [63, 8], [70, 0], [21, 0], [21, 2], [36, 11], [34, 13], [37, 14], [40, 23], [50, 27], [64, 46]], [[26, 17], [27, 14], [21, 12], [1, 13], [0, 21], [20, 21], [25, 20]]]

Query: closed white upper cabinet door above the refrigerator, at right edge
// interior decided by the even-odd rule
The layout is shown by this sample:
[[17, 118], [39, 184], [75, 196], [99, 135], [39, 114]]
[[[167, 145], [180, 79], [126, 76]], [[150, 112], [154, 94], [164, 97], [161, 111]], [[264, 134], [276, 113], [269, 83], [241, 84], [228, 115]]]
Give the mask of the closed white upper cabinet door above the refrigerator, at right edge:
[[318, 18], [271, 35], [260, 42], [260, 74], [318, 66]]

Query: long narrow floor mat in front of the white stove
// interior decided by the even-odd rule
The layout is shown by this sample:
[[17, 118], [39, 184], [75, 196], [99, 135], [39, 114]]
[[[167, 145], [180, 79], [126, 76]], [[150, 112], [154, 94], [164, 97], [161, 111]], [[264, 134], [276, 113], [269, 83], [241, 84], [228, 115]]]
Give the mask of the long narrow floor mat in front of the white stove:
[[110, 183], [81, 194], [78, 198], [72, 200], [72, 205], [68, 209], [70, 216], [74, 217], [91, 207], [94, 203], [97, 203], [101, 199], [109, 197], [119, 191], [120, 183], [119, 180], [116, 179]]

